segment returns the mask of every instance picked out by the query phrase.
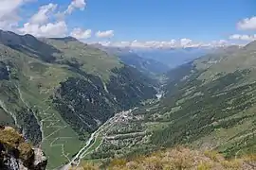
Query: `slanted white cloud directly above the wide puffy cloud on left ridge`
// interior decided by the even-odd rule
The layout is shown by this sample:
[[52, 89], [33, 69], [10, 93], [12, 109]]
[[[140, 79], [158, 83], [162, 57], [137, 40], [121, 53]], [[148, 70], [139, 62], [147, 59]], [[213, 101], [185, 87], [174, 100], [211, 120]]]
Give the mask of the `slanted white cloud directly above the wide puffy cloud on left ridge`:
[[30, 23], [32, 24], [46, 24], [50, 17], [52, 17], [52, 14], [54, 10], [57, 8], [57, 4], [48, 4], [46, 6], [42, 6], [39, 8], [38, 12], [35, 13], [30, 18]]

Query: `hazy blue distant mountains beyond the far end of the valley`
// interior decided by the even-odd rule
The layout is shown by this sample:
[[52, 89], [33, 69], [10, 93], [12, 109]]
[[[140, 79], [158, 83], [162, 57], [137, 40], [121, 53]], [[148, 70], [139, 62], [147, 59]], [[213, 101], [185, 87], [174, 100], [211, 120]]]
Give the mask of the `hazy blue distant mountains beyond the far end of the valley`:
[[116, 54], [127, 64], [136, 66], [138, 70], [163, 73], [178, 65], [197, 59], [223, 47], [179, 47], [179, 48], [135, 48], [114, 47], [93, 44], [107, 52]]

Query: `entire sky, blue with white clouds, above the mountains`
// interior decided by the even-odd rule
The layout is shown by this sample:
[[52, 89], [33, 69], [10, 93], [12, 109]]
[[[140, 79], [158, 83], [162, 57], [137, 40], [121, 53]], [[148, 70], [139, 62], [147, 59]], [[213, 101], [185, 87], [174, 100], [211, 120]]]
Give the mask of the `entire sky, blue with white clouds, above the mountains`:
[[256, 40], [256, 1], [0, 0], [0, 29], [109, 46], [246, 44]]

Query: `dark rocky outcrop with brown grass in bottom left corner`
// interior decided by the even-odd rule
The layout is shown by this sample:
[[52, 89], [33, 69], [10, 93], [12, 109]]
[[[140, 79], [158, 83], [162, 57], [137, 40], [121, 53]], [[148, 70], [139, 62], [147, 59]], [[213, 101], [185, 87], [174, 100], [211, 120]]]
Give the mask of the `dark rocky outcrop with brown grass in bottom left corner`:
[[12, 127], [0, 126], [1, 170], [45, 170], [47, 159], [40, 148], [27, 144]]

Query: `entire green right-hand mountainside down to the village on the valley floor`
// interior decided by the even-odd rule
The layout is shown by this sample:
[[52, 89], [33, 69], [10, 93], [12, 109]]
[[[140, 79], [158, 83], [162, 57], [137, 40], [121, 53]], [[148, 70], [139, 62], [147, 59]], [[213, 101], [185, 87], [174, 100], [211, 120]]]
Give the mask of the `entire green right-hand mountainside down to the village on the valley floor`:
[[129, 157], [187, 144], [225, 157], [256, 152], [255, 42], [221, 49], [168, 74], [160, 100], [120, 115], [86, 159]]

